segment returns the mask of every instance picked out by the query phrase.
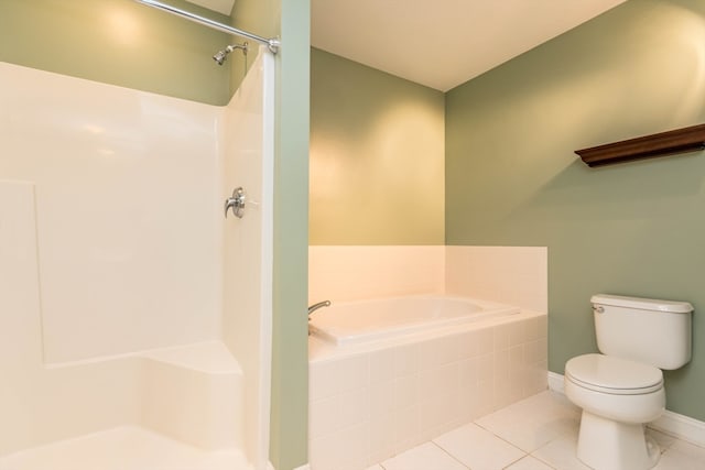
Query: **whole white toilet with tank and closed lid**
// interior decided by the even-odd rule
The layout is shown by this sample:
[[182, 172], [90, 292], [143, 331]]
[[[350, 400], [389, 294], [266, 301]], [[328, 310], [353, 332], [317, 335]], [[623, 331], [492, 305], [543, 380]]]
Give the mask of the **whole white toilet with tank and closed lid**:
[[577, 457], [596, 470], [647, 470], [659, 447], [644, 424], [665, 407], [661, 369], [691, 360], [687, 302], [594, 295], [597, 347], [565, 364], [565, 394], [583, 408]]

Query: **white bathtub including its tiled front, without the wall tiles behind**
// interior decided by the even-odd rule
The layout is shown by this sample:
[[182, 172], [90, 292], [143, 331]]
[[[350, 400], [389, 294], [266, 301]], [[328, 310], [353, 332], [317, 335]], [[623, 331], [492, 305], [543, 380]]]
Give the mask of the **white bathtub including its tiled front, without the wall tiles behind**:
[[308, 339], [314, 469], [368, 468], [546, 389], [545, 313], [443, 296], [330, 300]]

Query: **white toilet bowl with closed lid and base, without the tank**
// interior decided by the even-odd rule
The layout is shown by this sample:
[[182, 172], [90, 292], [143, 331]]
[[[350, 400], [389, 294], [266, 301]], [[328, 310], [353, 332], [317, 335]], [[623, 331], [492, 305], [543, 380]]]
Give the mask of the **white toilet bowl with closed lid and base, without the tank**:
[[577, 457], [598, 470], [649, 469], [659, 447], [644, 423], [665, 407], [663, 374], [639, 362], [585, 354], [565, 365], [565, 394], [583, 408]]

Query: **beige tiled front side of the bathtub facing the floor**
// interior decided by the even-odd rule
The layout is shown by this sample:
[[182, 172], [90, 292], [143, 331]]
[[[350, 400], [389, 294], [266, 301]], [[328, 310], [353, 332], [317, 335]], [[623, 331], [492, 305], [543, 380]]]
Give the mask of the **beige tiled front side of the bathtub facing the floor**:
[[312, 339], [310, 461], [360, 469], [546, 389], [546, 315], [346, 353]]

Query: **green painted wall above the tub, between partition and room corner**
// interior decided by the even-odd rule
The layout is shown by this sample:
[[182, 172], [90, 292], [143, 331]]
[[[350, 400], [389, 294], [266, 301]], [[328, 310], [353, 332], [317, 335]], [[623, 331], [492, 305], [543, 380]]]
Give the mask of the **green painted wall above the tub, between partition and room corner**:
[[444, 243], [444, 96], [313, 48], [311, 244]]

